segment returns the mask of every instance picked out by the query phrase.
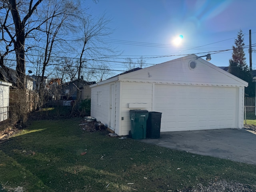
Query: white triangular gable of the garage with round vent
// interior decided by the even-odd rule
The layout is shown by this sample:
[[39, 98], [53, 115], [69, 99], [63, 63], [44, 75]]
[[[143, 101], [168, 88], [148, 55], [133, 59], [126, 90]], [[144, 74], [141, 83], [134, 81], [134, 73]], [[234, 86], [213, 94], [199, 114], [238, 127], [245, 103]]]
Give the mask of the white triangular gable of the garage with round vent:
[[191, 54], [118, 76], [119, 81], [210, 86], [248, 86], [244, 80]]

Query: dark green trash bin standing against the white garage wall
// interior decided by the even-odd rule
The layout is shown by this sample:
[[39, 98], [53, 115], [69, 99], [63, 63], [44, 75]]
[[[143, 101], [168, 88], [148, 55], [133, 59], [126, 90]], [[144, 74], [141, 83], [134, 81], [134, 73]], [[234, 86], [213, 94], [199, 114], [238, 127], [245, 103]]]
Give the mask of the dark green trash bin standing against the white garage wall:
[[148, 110], [130, 110], [133, 139], [146, 139]]

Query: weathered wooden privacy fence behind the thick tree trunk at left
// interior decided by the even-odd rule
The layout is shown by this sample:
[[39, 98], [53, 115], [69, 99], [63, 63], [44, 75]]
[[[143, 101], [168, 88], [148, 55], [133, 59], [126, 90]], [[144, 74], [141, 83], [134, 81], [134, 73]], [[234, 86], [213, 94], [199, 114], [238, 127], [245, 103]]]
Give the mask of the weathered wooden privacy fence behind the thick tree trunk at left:
[[10, 89], [10, 99], [9, 99], [9, 106], [10, 112], [15, 110], [17, 106], [21, 104], [24, 106], [24, 109], [27, 109], [28, 112], [32, 112], [36, 110], [38, 107], [39, 95], [33, 90], [26, 90], [26, 98], [23, 94], [20, 93], [20, 90], [17, 89]]

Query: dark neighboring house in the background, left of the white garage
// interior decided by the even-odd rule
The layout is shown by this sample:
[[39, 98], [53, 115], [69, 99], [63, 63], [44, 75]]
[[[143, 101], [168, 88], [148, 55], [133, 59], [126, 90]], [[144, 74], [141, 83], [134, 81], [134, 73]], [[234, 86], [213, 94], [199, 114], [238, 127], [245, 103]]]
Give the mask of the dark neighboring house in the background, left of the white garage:
[[80, 79], [79, 87], [78, 80], [73, 80], [71, 82], [61, 84], [61, 94], [62, 98], [68, 100], [76, 100], [77, 90], [81, 91], [81, 99], [86, 99], [88, 95], [91, 95], [90, 85], [96, 82], [87, 82]]

